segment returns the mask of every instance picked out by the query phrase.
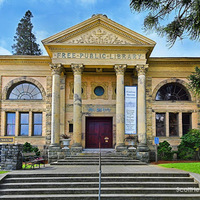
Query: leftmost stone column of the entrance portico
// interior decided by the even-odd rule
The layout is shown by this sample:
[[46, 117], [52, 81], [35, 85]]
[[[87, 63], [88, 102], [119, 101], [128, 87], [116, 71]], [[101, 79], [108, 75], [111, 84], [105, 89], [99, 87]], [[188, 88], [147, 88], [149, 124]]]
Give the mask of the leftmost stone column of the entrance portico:
[[60, 75], [63, 71], [61, 64], [51, 64], [52, 70], [52, 118], [51, 146], [60, 145]]

